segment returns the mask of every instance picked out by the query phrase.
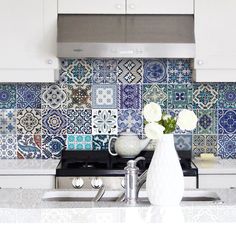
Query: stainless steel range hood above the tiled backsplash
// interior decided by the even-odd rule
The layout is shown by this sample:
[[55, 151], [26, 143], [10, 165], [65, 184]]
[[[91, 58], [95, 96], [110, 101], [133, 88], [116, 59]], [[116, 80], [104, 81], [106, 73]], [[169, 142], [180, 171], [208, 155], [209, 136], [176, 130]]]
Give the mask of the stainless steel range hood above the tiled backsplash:
[[193, 58], [193, 15], [59, 15], [58, 57]]

